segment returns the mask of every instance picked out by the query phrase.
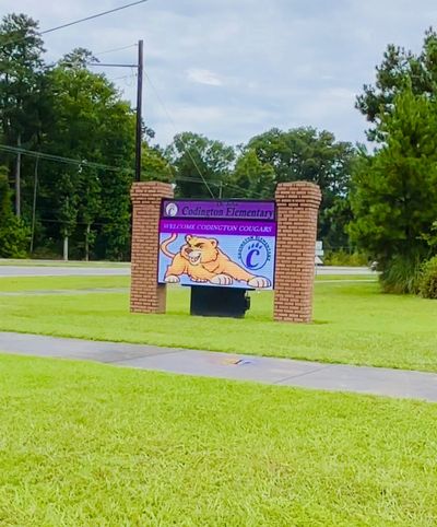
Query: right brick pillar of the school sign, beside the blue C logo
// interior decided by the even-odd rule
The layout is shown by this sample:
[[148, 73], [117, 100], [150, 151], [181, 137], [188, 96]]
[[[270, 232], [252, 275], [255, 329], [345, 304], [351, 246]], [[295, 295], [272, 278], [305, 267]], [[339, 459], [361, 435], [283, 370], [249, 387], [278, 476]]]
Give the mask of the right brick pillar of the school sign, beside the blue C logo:
[[321, 192], [307, 181], [277, 185], [275, 320], [310, 323], [317, 214]]

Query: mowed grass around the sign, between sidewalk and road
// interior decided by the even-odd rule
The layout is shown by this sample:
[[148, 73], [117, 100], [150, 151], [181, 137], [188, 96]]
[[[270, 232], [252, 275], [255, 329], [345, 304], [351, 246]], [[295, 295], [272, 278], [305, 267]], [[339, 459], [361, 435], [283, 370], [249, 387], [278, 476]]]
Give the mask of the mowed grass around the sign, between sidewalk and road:
[[[354, 280], [320, 277], [310, 325], [273, 321], [269, 292], [251, 293], [245, 319], [191, 317], [189, 290], [173, 288], [166, 315], [130, 314], [128, 293], [0, 296], [0, 330], [437, 371], [437, 301]], [[128, 278], [1, 279], [0, 291], [111, 284], [128, 286]]]

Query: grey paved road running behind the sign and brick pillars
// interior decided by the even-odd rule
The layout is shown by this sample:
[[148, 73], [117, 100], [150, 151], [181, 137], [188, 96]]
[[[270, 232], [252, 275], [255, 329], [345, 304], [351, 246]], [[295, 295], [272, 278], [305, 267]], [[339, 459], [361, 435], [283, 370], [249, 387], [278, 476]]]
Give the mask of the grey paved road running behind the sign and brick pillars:
[[[62, 267], [62, 266], [0, 266], [2, 277], [110, 277], [129, 276], [129, 267]], [[317, 274], [368, 274], [375, 276], [367, 267], [321, 267]]]

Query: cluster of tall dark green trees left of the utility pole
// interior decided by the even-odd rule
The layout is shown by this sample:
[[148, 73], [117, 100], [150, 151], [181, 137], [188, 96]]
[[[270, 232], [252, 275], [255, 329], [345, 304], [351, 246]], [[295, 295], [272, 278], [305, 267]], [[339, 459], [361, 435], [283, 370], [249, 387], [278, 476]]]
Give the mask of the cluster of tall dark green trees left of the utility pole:
[[128, 258], [134, 110], [104, 74], [87, 69], [90, 50], [46, 65], [38, 25], [26, 15], [3, 17], [0, 44], [8, 149], [0, 161], [21, 194], [24, 222], [35, 224], [33, 245], [59, 254], [69, 239], [76, 258]]

